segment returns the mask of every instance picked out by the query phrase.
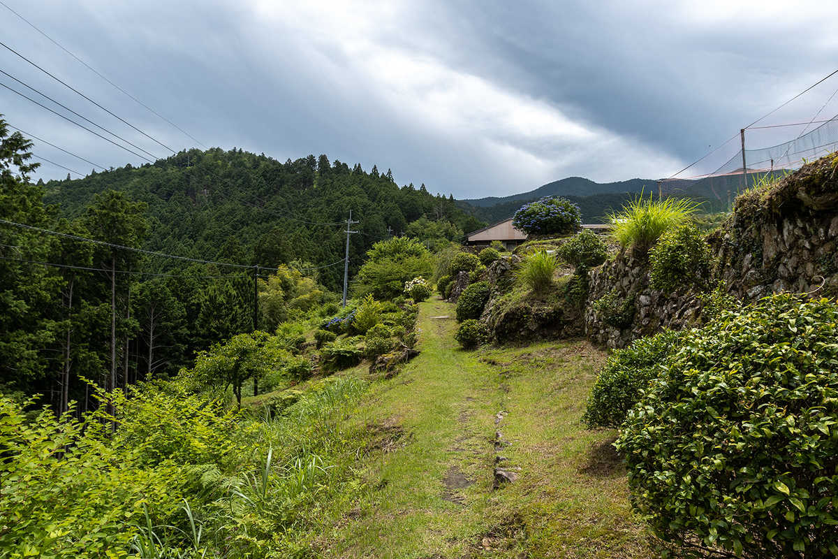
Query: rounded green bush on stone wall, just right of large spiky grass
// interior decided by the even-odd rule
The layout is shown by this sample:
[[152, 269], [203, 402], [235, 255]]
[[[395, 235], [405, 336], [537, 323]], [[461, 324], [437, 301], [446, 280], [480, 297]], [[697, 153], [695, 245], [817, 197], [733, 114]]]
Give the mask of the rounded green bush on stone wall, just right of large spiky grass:
[[713, 256], [696, 225], [685, 223], [666, 231], [649, 251], [652, 287], [674, 292], [684, 285], [706, 289]]

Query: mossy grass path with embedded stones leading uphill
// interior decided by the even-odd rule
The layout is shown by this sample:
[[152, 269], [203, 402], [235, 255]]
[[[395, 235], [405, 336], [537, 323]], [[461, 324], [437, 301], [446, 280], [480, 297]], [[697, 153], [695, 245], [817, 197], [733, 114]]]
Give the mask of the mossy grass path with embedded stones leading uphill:
[[360, 462], [364, 494], [324, 536], [327, 556], [652, 556], [615, 433], [579, 422], [603, 352], [464, 351], [453, 310], [422, 303], [422, 354], [352, 418], [380, 443]]

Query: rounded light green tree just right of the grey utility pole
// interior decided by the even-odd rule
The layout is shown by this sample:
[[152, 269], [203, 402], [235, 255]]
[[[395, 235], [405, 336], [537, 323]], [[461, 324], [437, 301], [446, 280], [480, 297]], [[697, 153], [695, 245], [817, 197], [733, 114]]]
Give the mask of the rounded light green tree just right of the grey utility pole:
[[367, 256], [353, 282], [353, 292], [361, 298], [394, 298], [401, 295], [406, 282], [414, 277], [431, 277], [433, 271], [431, 253], [416, 239], [394, 237], [377, 242]]

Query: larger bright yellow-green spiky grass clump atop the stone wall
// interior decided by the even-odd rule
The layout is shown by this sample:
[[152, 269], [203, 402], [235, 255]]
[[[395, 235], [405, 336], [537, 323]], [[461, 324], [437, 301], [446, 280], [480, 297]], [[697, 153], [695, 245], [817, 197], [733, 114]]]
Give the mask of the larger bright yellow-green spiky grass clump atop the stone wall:
[[618, 214], [609, 214], [611, 234], [624, 247], [645, 253], [666, 231], [682, 224], [698, 204], [691, 199], [644, 200], [642, 194]]

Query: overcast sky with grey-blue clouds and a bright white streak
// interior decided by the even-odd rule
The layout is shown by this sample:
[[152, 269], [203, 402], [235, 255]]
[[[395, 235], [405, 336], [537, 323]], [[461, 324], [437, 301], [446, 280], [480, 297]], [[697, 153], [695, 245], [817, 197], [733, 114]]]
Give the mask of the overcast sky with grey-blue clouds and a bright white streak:
[[[0, 70], [152, 160], [325, 153], [468, 199], [669, 177], [838, 69], [835, 21], [807, 0], [2, 0], [0, 42], [148, 137], [2, 47]], [[145, 163], [5, 87], [0, 113], [79, 173]]]

